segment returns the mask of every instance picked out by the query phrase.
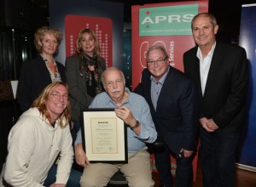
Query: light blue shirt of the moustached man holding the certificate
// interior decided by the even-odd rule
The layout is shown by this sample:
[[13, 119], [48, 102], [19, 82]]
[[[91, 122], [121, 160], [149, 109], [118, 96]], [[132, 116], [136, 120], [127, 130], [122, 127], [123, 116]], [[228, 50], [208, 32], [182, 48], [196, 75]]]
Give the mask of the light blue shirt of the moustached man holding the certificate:
[[[147, 101], [141, 95], [131, 93], [128, 88], [125, 88], [125, 92], [128, 93], [128, 99], [123, 105], [127, 106], [132, 115], [141, 123], [139, 136], [127, 126], [128, 152], [136, 152], [143, 150], [145, 143], [153, 143], [157, 138], [157, 133]], [[89, 108], [118, 108], [118, 106], [113, 103], [113, 100], [106, 92], [103, 92], [96, 95]], [[75, 144], [82, 142], [81, 128], [77, 135]]]

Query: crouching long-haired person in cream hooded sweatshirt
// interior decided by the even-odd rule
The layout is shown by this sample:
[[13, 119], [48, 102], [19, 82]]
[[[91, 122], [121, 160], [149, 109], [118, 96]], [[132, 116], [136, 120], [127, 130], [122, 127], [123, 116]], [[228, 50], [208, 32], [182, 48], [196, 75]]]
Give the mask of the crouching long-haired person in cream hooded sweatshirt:
[[57, 156], [50, 187], [66, 186], [73, 164], [70, 112], [67, 84], [54, 82], [44, 88], [9, 133], [0, 186], [43, 186]]

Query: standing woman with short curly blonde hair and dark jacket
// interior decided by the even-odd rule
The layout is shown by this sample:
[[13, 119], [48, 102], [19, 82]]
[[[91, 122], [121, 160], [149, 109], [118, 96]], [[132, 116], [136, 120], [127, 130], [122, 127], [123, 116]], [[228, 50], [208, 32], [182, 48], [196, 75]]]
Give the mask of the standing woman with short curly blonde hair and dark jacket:
[[66, 82], [64, 65], [55, 61], [62, 39], [61, 31], [43, 26], [34, 37], [38, 56], [22, 65], [17, 89], [17, 100], [22, 112], [31, 107], [33, 100], [49, 83]]

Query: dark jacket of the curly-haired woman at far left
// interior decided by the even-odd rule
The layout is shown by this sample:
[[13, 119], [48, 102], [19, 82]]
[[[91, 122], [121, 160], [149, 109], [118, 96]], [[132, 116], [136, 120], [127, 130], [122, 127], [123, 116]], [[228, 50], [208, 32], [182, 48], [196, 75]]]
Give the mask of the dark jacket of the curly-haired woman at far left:
[[[56, 65], [61, 75], [61, 81], [66, 82], [64, 65], [59, 62], [56, 62]], [[43, 89], [51, 82], [49, 71], [41, 55], [25, 62], [21, 67], [17, 88], [17, 100], [20, 110], [28, 110], [32, 102], [38, 98]]]

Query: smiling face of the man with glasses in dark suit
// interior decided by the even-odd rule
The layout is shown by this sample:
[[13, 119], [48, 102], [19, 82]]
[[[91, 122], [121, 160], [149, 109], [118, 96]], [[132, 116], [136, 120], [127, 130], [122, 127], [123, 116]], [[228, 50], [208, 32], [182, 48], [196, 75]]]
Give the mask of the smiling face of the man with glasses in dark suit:
[[164, 52], [161, 49], [155, 48], [148, 53], [147, 66], [154, 79], [159, 81], [168, 71], [169, 62]]

